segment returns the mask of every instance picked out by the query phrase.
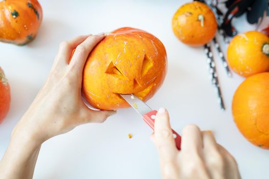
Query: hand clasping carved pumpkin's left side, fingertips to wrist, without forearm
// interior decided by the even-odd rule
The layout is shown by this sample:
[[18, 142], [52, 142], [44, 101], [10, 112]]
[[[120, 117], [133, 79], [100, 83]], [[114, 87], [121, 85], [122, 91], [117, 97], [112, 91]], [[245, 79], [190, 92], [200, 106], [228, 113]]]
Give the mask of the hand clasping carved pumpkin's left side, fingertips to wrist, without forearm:
[[[35, 136], [41, 142], [89, 122], [104, 122], [115, 111], [89, 109], [81, 99], [82, 70], [85, 61], [104, 38], [102, 35], [78, 36], [60, 44], [52, 70], [43, 88], [13, 130]], [[70, 59], [72, 50], [74, 55]], [[31, 136], [31, 137], [32, 137]]]

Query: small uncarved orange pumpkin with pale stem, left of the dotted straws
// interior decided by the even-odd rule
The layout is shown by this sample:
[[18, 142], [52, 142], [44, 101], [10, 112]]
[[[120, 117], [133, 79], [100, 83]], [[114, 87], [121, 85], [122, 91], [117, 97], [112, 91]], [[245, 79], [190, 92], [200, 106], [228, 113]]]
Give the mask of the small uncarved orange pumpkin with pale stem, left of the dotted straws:
[[201, 2], [181, 6], [172, 19], [177, 38], [190, 46], [202, 46], [213, 39], [217, 21], [211, 9]]

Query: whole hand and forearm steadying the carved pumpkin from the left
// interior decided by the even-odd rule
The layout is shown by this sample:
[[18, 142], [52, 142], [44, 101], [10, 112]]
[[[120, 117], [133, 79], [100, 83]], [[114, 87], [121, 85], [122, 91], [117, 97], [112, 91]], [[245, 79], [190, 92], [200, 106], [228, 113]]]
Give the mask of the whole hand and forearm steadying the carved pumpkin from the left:
[[[94, 111], [81, 99], [82, 70], [102, 35], [78, 36], [60, 44], [47, 81], [12, 132], [0, 161], [0, 178], [32, 178], [41, 144], [89, 122], [104, 122], [115, 111]], [[72, 56], [72, 50], [76, 49]]]

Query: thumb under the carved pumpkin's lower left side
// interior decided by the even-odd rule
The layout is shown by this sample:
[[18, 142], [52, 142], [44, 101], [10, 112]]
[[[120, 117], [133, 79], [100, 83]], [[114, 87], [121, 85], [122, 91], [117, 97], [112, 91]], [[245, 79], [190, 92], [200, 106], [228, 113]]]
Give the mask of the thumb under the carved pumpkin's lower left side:
[[83, 107], [80, 112], [79, 124], [86, 123], [102, 123], [106, 119], [117, 112], [115, 110], [92, 110], [88, 107]]

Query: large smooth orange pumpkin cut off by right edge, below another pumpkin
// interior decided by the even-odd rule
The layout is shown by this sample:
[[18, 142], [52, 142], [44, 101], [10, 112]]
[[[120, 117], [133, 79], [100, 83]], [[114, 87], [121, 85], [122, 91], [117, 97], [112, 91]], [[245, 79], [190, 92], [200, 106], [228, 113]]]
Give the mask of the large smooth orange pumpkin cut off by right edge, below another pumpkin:
[[247, 78], [235, 92], [232, 109], [243, 136], [254, 145], [269, 149], [269, 73]]

